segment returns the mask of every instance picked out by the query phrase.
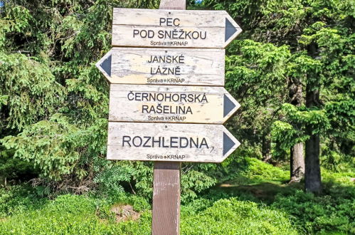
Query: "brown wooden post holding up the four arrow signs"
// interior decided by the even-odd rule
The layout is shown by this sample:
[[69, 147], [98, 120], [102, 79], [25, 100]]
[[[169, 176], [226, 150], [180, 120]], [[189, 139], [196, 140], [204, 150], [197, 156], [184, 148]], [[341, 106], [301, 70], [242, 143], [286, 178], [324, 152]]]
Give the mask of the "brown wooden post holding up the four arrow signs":
[[[186, 10], [186, 0], [161, 0], [159, 9]], [[152, 234], [180, 234], [181, 162], [154, 162]]]

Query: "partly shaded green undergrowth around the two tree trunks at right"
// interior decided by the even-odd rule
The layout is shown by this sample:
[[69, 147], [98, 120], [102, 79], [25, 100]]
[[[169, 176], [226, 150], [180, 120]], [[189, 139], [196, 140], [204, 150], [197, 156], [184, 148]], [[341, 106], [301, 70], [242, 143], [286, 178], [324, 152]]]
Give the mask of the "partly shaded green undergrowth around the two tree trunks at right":
[[203, 197], [267, 204], [268, 209], [285, 212], [300, 234], [355, 234], [354, 171], [322, 169], [324, 190], [314, 196], [303, 191], [304, 182], [287, 184], [288, 171], [256, 159], [246, 161], [238, 177], [218, 184]]

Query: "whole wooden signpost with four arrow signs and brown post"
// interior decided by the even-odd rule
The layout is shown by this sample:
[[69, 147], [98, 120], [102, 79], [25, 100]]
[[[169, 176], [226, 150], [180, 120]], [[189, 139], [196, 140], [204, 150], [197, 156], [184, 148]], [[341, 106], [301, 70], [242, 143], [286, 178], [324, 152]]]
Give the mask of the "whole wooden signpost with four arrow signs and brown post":
[[154, 161], [152, 234], [179, 234], [181, 162], [222, 162], [240, 145], [224, 122], [240, 107], [223, 88], [225, 48], [241, 32], [226, 11], [114, 9], [108, 160]]

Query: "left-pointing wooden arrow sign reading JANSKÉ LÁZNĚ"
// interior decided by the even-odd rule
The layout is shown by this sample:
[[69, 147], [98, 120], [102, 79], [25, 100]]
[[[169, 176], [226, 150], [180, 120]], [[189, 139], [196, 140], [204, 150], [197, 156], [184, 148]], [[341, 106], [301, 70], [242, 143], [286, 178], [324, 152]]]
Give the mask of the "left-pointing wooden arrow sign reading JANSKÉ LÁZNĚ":
[[224, 85], [224, 49], [112, 48], [96, 66], [121, 84]]

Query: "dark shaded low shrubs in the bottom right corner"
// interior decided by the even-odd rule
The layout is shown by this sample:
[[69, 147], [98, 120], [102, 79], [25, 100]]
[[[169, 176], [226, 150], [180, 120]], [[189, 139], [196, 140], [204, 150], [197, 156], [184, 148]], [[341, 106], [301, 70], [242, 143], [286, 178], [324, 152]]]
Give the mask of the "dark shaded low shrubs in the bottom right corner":
[[354, 188], [348, 188], [334, 197], [299, 190], [287, 197], [277, 195], [271, 207], [287, 212], [299, 230], [307, 234], [355, 234], [355, 200], [351, 191], [354, 194]]

